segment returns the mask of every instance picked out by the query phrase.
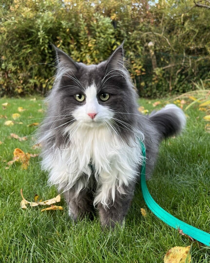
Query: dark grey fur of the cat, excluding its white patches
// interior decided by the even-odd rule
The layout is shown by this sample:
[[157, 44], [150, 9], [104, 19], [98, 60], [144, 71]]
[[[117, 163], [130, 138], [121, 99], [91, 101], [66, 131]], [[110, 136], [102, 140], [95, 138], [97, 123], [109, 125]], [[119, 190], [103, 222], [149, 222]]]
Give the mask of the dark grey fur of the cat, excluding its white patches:
[[[183, 128], [184, 117], [179, 117], [182, 113], [177, 113], [176, 108], [173, 107], [153, 112], [149, 116], [144, 116], [138, 112], [137, 94], [123, 64], [122, 45], [115, 50], [108, 60], [98, 65], [87, 66], [83, 63], [74, 62], [67, 54], [57, 48], [56, 53], [57, 77], [47, 98], [48, 118], [44, 120], [39, 131], [39, 142], [43, 144], [43, 158], [68, 140], [67, 135], [63, 135], [63, 130], [67, 125], [74, 122], [71, 115], [72, 110], [82, 105], [74, 99], [73, 95], [82, 93], [84, 87], [91, 85], [94, 81], [98, 93], [108, 92], [111, 94], [109, 100], [103, 104], [115, 112], [114, 117], [119, 120], [119, 122], [116, 121], [115, 128], [123, 140], [128, 143], [128, 138], [133, 136], [130, 127], [138, 128], [144, 134], [147, 155], [146, 173], [149, 177], [157, 158], [160, 141], [179, 133]], [[115, 74], [109, 75], [112, 76], [109, 79], [105, 78], [105, 85], [101, 85], [104, 75], [113, 69]], [[99, 103], [102, 102], [99, 101]], [[122, 121], [126, 124], [122, 125]], [[136, 178], [138, 177], [139, 173], [136, 174]], [[94, 176], [92, 178], [94, 180]], [[101, 204], [98, 205], [97, 209], [103, 226], [114, 227], [115, 222], [122, 223], [132, 200], [135, 184], [136, 181], [133, 181], [128, 188], [124, 186], [126, 194], [120, 195], [116, 191], [116, 199], [109, 206], [109, 209], [104, 209]], [[87, 185], [77, 198], [74, 195], [74, 188], [64, 193], [74, 220], [79, 217], [82, 218], [84, 214], [92, 213], [95, 185], [97, 185], [96, 181]]]

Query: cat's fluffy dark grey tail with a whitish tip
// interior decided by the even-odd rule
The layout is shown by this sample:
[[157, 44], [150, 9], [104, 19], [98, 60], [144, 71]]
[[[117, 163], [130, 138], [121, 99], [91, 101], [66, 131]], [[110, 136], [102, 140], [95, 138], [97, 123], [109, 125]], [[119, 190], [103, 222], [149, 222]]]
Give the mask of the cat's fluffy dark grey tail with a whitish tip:
[[186, 125], [183, 110], [174, 104], [168, 104], [158, 112], [152, 112], [149, 119], [159, 131], [160, 139], [180, 133]]

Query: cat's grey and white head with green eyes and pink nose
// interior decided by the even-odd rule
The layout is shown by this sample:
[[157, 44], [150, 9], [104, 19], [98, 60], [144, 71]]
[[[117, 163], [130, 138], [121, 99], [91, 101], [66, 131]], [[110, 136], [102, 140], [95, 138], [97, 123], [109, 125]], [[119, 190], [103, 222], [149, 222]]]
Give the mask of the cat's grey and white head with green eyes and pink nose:
[[56, 81], [48, 97], [51, 130], [74, 122], [93, 128], [112, 123], [119, 133], [125, 134], [129, 129], [125, 125], [132, 125], [131, 114], [136, 110], [136, 92], [124, 66], [123, 46], [98, 65], [75, 62], [55, 49]]

